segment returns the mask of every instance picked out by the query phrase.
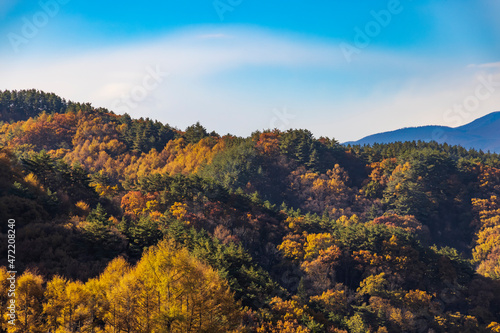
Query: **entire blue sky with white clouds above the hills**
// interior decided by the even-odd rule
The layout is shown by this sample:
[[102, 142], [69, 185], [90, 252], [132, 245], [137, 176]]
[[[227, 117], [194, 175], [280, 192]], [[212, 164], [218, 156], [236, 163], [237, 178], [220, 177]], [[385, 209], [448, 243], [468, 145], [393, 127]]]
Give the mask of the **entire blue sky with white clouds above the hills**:
[[3, 0], [0, 89], [356, 140], [500, 110], [500, 1]]

